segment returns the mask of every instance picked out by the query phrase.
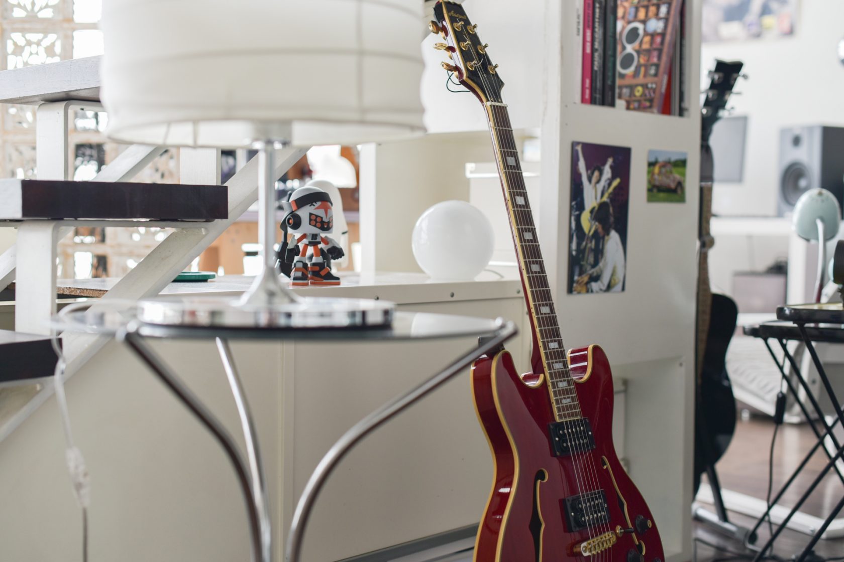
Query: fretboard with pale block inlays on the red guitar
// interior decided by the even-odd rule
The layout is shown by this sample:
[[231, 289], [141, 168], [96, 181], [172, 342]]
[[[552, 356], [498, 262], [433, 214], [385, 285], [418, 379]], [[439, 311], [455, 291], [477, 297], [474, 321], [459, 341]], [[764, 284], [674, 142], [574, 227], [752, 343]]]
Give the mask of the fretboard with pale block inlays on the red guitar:
[[538, 233], [533, 223], [530, 201], [527, 199], [527, 188], [510, 116], [505, 104], [486, 102], [486, 108], [522, 282], [526, 289], [525, 297], [531, 311], [533, 345], [538, 346], [542, 356], [557, 420], [579, 418], [582, 416], [580, 403], [577, 401], [574, 380], [565, 356], [565, 346], [560, 337], [557, 311], [551, 297], [542, 251], [539, 249]]

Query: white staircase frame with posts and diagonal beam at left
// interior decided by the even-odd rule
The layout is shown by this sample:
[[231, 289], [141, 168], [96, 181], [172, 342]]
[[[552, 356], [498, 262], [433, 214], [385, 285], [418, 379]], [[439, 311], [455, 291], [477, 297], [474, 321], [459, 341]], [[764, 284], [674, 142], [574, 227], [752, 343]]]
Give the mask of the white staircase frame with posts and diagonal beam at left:
[[[70, 147], [68, 130], [73, 110], [102, 110], [100, 99], [100, 57], [24, 67], [0, 72], [0, 103], [38, 105], [36, 119], [36, 164], [38, 179], [68, 180]], [[125, 182], [133, 179], [165, 147], [135, 145], [127, 148], [94, 180]], [[306, 152], [285, 148], [275, 157], [277, 174], [283, 174]], [[182, 148], [181, 182], [186, 185], [219, 185], [219, 149]], [[91, 221], [78, 218], [24, 219], [0, 221], [0, 227], [18, 229], [15, 247], [0, 255], [0, 290], [15, 282], [15, 332], [50, 335], [49, 320], [57, 311], [57, 244], [75, 226], [168, 227], [175, 232], [159, 244], [104, 299], [137, 300], [158, 294], [179, 272], [241, 217], [257, 201], [257, 163], [250, 162], [226, 184], [228, 218], [211, 222], [118, 220]], [[87, 335], [62, 337], [68, 358], [68, 376], [106, 344], [106, 339]], [[14, 345], [14, 343], [10, 344]], [[13, 415], [0, 419], [0, 440], [14, 431], [27, 415], [51, 394], [51, 385]], [[0, 383], [0, 403], [3, 401]], [[0, 404], [2, 410], [2, 404]]]

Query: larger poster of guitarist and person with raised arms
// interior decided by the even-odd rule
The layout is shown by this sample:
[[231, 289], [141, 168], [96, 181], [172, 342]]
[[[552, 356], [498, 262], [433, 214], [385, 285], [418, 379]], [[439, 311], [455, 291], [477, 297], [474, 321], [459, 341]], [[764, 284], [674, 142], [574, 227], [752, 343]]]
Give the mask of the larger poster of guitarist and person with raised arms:
[[630, 148], [573, 142], [569, 293], [622, 292]]

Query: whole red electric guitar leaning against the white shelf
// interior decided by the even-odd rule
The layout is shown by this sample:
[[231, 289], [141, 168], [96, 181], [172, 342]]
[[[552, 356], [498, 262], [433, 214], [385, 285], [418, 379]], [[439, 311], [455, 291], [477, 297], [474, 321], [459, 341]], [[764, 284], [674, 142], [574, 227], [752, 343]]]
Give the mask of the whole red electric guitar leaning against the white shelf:
[[[506, 104], [487, 45], [463, 8], [441, 1], [432, 32], [443, 63], [484, 104], [533, 332], [533, 372], [519, 376], [501, 349], [472, 369], [495, 477], [475, 543], [476, 562], [663, 562], [651, 511], [619, 463], [613, 378], [598, 345], [565, 353]], [[679, 491], [678, 491], [679, 493]]]

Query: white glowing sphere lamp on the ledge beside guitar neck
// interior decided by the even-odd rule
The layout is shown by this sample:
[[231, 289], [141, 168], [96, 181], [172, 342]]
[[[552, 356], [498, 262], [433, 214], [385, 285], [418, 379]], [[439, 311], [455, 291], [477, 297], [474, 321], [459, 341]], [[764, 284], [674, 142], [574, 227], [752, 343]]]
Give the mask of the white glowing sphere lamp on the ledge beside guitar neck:
[[431, 281], [472, 281], [490, 263], [495, 233], [490, 219], [466, 201], [442, 201], [416, 221], [416, 263]]

